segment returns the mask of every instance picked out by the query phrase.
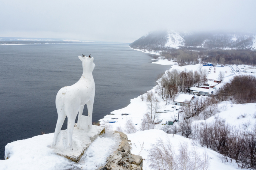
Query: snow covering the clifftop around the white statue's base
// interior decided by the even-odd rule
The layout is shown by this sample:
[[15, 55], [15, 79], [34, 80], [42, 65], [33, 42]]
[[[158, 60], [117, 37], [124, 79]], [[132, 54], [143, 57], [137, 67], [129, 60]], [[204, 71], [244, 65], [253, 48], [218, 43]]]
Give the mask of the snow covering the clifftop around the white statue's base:
[[8, 160], [0, 160], [0, 170], [98, 169], [117, 150], [120, 135], [111, 131], [95, 139], [78, 163], [57, 155], [50, 146], [54, 133], [18, 140], [5, 146]]

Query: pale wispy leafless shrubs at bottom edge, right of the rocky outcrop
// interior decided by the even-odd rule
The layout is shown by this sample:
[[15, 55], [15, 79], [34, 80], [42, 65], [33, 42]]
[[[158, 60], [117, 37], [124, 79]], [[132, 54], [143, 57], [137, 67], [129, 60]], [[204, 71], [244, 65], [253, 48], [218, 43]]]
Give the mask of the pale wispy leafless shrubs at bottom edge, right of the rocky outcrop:
[[180, 144], [179, 154], [176, 155], [170, 141], [162, 139], [151, 145], [148, 158], [149, 167], [158, 170], [208, 170], [210, 159], [204, 152], [203, 157], [196, 150], [195, 145], [189, 151], [187, 143]]

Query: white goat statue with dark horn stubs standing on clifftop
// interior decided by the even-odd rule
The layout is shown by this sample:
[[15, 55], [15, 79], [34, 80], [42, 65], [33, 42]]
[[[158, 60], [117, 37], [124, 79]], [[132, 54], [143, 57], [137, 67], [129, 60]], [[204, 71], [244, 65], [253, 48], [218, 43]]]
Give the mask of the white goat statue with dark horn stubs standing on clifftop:
[[[56, 95], [58, 120], [53, 137], [53, 147], [58, 142], [61, 127], [67, 116], [67, 149], [72, 150], [72, 135], [75, 119], [78, 114], [77, 128], [89, 130], [92, 127], [92, 108], [95, 96], [95, 83], [92, 71], [95, 68], [93, 57], [78, 56], [82, 61], [83, 74], [75, 84], [61, 88]], [[83, 108], [87, 105], [88, 116], [84, 116]]]

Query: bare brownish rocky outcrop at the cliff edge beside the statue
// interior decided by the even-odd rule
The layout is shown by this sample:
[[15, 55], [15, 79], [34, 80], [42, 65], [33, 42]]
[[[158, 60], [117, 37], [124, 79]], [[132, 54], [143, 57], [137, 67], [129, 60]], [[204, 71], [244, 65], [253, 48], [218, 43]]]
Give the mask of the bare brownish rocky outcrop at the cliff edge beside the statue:
[[120, 145], [113, 155], [107, 158], [106, 165], [98, 170], [142, 170], [143, 159], [139, 155], [131, 154], [130, 140], [128, 140], [127, 135], [118, 131], [115, 133], [120, 134]]

